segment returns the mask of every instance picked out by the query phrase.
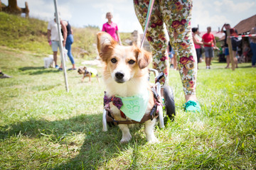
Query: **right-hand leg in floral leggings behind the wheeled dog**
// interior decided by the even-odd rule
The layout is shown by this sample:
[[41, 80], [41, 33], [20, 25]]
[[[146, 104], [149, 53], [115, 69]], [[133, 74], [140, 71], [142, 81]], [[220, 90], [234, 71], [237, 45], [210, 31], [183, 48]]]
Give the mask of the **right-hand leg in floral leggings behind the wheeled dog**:
[[186, 102], [197, 101], [197, 57], [191, 33], [192, 1], [161, 1], [160, 6], [164, 23], [169, 31], [171, 45], [175, 50]]

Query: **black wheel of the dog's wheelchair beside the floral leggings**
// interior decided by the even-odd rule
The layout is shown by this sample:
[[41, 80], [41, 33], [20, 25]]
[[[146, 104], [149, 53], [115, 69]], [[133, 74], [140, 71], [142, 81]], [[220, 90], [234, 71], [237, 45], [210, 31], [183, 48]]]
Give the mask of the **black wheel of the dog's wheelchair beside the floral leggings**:
[[171, 86], [163, 86], [164, 89], [164, 105], [166, 108], [166, 114], [170, 120], [174, 120], [175, 113], [175, 103], [174, 103], [174, 93]]

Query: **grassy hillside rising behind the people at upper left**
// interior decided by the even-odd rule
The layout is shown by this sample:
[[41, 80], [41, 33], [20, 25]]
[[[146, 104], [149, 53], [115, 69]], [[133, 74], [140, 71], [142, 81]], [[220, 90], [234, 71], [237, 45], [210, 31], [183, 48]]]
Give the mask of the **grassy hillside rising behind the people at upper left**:
[[[47, 42], [47, 26], [48, 22], [36, 18], [23, 18], [0, 12], [0, 45], [43, 55], [52, 54]], [[99, 30], [93, 26], [73, 28], [75, 41], [72, 50], [75, 57], [96, 57], [96, 33]], [[122, 40], [129, 39], [130, 35], [120, 33]]]

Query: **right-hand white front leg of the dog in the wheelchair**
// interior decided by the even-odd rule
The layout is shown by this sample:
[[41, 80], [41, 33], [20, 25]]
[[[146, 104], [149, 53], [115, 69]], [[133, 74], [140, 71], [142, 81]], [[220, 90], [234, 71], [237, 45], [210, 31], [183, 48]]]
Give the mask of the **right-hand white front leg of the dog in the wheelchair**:
[[156, 125], [156, 118], [153, 120], [147, 120], [145, 122], [145, 133], [146, 133], [146, 140], [149, 143], [156, 143], [159, 142], [154, 135], [154, 125]]

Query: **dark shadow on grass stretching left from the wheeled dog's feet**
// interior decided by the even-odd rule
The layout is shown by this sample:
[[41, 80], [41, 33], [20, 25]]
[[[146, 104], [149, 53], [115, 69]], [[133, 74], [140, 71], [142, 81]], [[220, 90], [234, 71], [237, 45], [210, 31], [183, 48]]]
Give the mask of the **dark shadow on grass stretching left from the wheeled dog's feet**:
[[77, 144], [65, 142], [65, 137], [72, 136], [74, 133], [85, 135], [84, 142], [75, 157], [69, 159], [69, 154], [73, 154], [73, 151], [68, 151], [68, 156], [65, 158], [67, 161], [58, 165], [49, 165], [50, 167], [47, 168], [50, 169], [97, 169], [97, 167], [109, 164], [110, 160], [127, 148], [136, 149], [137, 142], [139, 145], [146, 143], [144, 137], [132, 130], [132, 141], [121, 145], [119, 140], [122, 138], [122, 132], [118, 127], [109, 127], [107, 132], [102, 132], [101, 116], [99, 113], [97, 115], [79, 115], [67, 120], [31, 119], [14, 123], [0, 127], [0, 140], [22, 135], [31, 139], [42, 138], [42, 140], [67, 145], [68, 148]]

